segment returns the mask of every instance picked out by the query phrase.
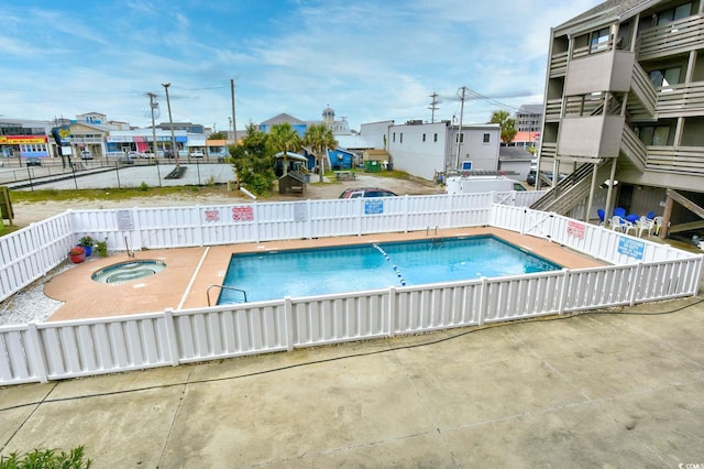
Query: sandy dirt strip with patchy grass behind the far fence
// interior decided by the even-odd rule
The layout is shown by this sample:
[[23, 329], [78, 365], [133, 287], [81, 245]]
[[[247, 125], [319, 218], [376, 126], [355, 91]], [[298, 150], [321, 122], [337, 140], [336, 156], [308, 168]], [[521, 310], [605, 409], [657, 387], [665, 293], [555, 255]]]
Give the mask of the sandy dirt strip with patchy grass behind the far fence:
[[[306, 194], [301, 196], [284, 196], [272, 195], [271, 197], [260, 198], [258, 201], [274, 200], [300, 200], [302, 199], [326, 199], [337, 198], [340, 194], [350, 187], [383, 187], [393, 190], [398, 195], [420, 195], [420, 194], [442, 194], [443, 188], [436, 186], [430, 181], [421, 178], [399, 179], [385, 177], [374, 174], [356, 174], [355, 181], [329, 181], [320, 184], [318, 176], [314, 175], [311, 184], [306, 188]], [[111, 208], [130, 208], [130, 207], [174, 207], [184, 205], [199, 204], [240, 204], [251, 203], [252, 199], [240, 192], [228, 192], [226, 187], [216, 187], [212, 189], [204, 189], [199, 194], [194, 195], [173, 195], [164, 196], [145, 196], [140, 198], [130, 198], [122, 200], [110, 199], [73, 199], [73, 200], [44, 200], [41, 203], [22, 203], [13, 201], [14, 225], [24, 227], [30, 223], [44, 220], [54, 215], [64, 212], [68, 209], [111, 209]]]

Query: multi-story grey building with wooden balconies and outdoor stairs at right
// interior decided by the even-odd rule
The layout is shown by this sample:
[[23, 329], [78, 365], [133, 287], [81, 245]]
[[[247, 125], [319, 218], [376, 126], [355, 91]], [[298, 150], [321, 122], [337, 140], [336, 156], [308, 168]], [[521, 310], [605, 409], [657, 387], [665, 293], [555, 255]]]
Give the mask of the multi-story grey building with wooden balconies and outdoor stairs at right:
[[671, 232], [704, 226], [673, 204], [704, 206], [703, 10], [608, 0], [552, 29], [539, 165], [553, 181], [573, 174], [537, 207], [595, 219], [619, 206], [664, 215]]

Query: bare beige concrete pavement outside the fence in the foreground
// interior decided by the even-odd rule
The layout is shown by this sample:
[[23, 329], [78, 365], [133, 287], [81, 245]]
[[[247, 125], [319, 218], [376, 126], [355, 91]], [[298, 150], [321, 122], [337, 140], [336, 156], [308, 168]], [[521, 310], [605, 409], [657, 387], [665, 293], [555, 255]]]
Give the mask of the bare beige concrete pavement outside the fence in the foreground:
[[[0, 389], [0, 455], [101, 468], [704, 462], [704, 298]], [[690, 465], [690, 466], [686, 466]]]

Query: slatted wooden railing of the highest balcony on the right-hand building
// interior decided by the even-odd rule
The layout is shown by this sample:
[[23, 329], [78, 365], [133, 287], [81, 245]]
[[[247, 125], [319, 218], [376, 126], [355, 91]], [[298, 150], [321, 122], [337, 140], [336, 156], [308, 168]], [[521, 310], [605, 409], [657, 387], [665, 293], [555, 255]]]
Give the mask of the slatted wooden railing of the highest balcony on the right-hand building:
[[704, 14], [694, 14], [640, 33], [636, 51], [638, 61], [663, 57], [704, 46]]

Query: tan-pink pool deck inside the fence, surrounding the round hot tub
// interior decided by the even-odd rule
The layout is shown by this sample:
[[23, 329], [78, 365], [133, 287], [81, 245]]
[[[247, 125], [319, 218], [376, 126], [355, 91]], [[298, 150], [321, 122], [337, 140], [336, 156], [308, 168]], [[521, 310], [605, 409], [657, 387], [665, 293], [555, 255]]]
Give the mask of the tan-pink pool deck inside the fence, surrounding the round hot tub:
[[[89, 258], [51, 279], [44, 286], [47, 296], [65, 302], [48, 320], [72, 320], [88, 317], [121, 316], [208, 306], [208, 287], [221, 285], [233, 253], [262, 252], [301, 248], [322, 248], [371, 242], [428, 239], [435, 232], [381, 233], [352, 237], [319, 238], [294, 241], [267, 241], [127, 252], [108, 258]], [[439, 237], [495, 234], [512, 244], [535, 252], [563, 268], [580, 269], [604, 263], [565, 249], [554, 242], [497, 228], [461, 228], [440, 230]], [[156, 275], [122, 284], [106, 284], [90, 280], [90, 275], [106, 266], [133, 260], [160, 260], [166, 269]], [[219, 290], [211, 291], [215, 304]]]

